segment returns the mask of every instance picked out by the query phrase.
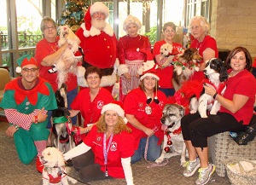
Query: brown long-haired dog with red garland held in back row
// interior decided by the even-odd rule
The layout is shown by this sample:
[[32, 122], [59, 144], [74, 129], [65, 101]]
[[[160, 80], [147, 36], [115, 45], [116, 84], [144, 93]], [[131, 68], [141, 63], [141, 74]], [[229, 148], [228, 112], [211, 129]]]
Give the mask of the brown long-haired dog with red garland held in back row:
[[172, 76], [172, 85], [177, 91], [181, 88], [183, 82], [188, 81], [194, 72], [199, 71], [201, 55], [197, 49], [185, 49], [183, 55], [173, 59], [174, 69]]

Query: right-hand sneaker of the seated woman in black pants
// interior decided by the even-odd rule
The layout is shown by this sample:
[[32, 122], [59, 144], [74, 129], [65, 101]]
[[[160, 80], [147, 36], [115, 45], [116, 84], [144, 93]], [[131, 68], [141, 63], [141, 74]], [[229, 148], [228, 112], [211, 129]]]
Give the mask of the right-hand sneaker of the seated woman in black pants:
[[199, 169], [199, 177], [195, 181], [197, 185], [204, 185], [210, 181], [212, 173], [215, 171], [215, 165], [209, 164], [207, 169]]

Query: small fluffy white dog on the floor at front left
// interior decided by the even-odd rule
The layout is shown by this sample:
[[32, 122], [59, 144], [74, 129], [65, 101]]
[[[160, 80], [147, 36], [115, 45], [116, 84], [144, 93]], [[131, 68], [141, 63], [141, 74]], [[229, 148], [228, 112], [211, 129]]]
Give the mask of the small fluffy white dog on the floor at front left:
[[67, 168], [62, 153], [55, 147], [46, 147], [40, 156], [40, 161], [44, 165], [43, 185], [60, 184], [68, 185], [68, 181], [73, 184], [77, 180], [67, 176]]

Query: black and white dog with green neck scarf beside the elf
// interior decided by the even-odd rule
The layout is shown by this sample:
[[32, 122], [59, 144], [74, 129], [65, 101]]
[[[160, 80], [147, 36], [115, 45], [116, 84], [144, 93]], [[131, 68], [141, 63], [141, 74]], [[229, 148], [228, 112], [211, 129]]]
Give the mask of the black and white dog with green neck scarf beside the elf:
[[72, 134], [72, 122], [69, 119], [70, 113], [67, 110], [67, 85], [62, 84], [59, 90], [56, 90], [55, 97], [58, 108], [53, 110], [53, 133], [55, 134], [55, 147], [62, 153], [75, 147]]

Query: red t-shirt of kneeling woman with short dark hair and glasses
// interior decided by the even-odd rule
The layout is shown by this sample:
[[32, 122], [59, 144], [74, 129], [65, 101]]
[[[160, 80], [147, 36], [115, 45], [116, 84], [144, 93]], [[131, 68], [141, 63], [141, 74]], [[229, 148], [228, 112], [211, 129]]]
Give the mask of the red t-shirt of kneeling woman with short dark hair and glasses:
[[71, 104], [73, 110], [79, 110], [84, 118], [84, 128], [87, 124], [96, 123], [102, 112], [102, 107], [113, 101], [113, 96], [105, 88], [101, 88], [93, 101], [90, 101], [90, 89], [80, 90]]

